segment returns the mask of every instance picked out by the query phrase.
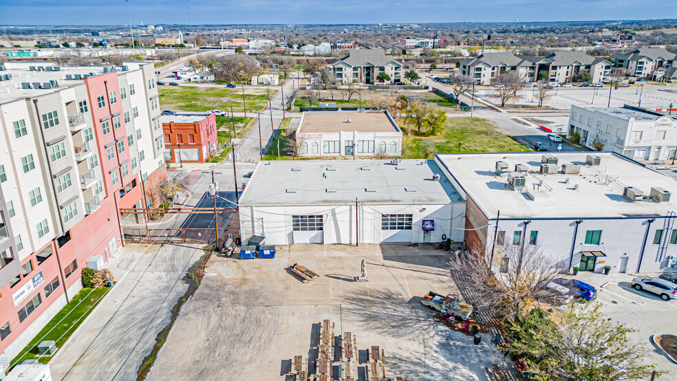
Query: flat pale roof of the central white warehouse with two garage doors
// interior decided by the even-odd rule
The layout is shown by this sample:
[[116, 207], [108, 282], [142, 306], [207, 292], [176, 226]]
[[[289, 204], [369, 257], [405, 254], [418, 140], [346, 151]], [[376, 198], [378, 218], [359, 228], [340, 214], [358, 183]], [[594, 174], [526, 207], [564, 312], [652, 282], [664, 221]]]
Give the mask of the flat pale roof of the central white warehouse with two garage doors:
[[[440, 181], [433, 180], [440, 175]], [[462, 202], [433, 160], [259, 162], [240, 206]]]

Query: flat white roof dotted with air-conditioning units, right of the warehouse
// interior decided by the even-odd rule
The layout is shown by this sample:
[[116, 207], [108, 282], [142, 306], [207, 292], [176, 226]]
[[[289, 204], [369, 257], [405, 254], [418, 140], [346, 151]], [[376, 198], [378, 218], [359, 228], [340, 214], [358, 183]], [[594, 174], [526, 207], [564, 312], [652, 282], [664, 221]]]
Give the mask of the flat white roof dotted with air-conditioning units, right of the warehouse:
[[[441, 154], [437, 159], [448, 168], [459, 191], [466, 193], [489, 219], [498, 211], [504, 218], [584, 218], [636, 217], [665, 215], [677, 209], [677, 198], [658, 203], [648, 200], [630, 202], [623, 197], [625, 186], [633, 186], [649, 196], [650, 190], [663, 188], [677, 192], [677, 181], [616, 153], [548, 153], [562, 164], [581, 164], [581, 173], [541, 175], [541, 153]], [[599, 166], [585, 165], [587, 155], [601, 157]], [[507, 186], [507, 175], [496, 175], [496, 162], [526, 164], [530, 169], [524, 191]], [[541, 186], [538, 184], [542, 181]], [[577, 186], [577, 187], [576, 187]], [[529, 192], [535, 199], [532, 199]]]

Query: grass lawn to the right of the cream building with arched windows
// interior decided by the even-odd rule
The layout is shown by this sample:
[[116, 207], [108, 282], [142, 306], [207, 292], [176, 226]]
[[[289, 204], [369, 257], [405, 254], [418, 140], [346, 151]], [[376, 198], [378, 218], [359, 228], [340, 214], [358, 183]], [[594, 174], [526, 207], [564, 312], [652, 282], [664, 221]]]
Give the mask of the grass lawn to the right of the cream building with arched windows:
[[438, 136], [406, 136], [402, 158], [420, 159], [427, 146], [433, 146], [436, 153], [458, 153], [459, 143], [462, 153], [531, 151], [485, 119], [449, 118], [447, 128]]

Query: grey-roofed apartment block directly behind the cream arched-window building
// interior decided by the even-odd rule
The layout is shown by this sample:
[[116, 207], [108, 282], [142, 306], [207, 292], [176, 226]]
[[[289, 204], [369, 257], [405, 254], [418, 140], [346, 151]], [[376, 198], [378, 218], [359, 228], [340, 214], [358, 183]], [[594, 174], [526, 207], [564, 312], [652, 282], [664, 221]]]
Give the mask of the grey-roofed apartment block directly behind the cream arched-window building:
[[385, 72], [390, 80], [385, 85], [402, 82], [402, 63], [385, 55], [383, 49], [348, 50], [348, 56], [332, 64], [336, 81], [339, 83], [380, 83], [376, 77]]

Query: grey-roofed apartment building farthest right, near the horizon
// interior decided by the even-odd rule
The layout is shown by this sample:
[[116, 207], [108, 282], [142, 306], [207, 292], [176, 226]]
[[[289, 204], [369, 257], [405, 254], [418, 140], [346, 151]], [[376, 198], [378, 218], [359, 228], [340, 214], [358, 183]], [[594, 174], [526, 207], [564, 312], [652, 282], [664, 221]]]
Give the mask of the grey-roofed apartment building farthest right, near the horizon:
[[611, 56], [614, 67], [622, 67], [628, 76], [647, 77], [656, 69], [677, 66], [677, 54], [663, 47], [641, 47], [629, 53], [616, 53]]

